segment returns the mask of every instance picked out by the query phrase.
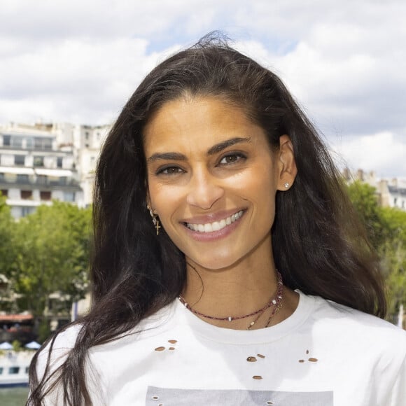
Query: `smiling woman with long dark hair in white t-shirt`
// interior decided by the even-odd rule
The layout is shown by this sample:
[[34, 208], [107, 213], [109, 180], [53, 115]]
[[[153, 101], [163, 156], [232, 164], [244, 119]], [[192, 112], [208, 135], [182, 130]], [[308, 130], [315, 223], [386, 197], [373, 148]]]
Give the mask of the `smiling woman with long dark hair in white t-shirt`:
[[[208, 36], [104, 145], [92, 309], [45, 343], [29, 405], [405, 405], [406, 335], [314, 127]], [[375, 315], [375, 316], [373, 316]]]

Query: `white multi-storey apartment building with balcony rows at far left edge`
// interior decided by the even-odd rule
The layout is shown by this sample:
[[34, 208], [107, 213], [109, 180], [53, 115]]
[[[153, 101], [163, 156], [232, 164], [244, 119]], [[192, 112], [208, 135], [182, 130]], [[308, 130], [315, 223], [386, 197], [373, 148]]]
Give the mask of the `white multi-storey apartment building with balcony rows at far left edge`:
[[34, 126], [0, 127], [0, 190], [15, 218], [52, 200], [84, 205], [73, 146], [58, 148], [55, 132]]

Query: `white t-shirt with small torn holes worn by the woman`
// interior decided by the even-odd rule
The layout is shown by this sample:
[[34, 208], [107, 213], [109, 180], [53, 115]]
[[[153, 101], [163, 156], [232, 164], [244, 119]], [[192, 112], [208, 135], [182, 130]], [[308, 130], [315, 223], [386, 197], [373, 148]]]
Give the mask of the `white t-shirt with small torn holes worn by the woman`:
[[[406, 332], [321, 297], [300, 293], [285, 321], [247, 331], [215, 327], [176, 300], [140, 330], [90, 349], [95, 406], [406, 405]], [[77, 332], [60, 335], [54, 359]]]

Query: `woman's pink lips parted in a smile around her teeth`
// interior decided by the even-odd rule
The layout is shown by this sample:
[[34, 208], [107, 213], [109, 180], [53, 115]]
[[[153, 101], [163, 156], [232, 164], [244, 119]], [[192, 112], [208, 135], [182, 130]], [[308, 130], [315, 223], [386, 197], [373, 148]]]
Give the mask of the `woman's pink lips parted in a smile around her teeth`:
[[[186, 223], [192, 224], [214, 223], [216, 221], [225, 220], [225, 218], [228, 218], [233, 214], [237, 214], [239, 212], [241, 212], [239, 218], [237, 218], [231, 224], [225, 225], [225, 227], [221, 228], [221, 230], [215, 230], [211, 232], [201, 232], [191, 230], [186, 225]], [[208, 214], [206, 216], [196, 216], [193, 218], [189, 218], [188, 221], [182, 221], [181, 223], [183, 224], [183, 227], [186, 229], [186, 232], [188, 232], [188, 235], [190, 235], [190, 237], [192, 237], [193, 239], [197, 241], [215, 241], [217, 239], [221, 239], [230, 235], [230, 233], [232, 233], [238, 227], [241, 218], [244, 217], [245, 213], [246, 209], [232, 209], [228, 211], [217, 212], [215, 214]]]

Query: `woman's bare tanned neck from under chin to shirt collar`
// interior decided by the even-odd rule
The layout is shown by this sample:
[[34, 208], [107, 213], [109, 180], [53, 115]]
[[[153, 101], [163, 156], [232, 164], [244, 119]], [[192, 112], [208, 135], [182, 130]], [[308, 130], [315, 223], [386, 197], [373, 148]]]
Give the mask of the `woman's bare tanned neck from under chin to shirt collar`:
[[[268, 325], [279, 323], [290, 316], [297, 306], [297, 294], [284, 287], [280, 303], [282, 307], [276, 314], [272, 314], [273, 308], [269, 307], [258, 321], [256, 315], [238, 319], [239, 316], [262, 309], [269, 300], [277, 297], [278, 276], [272, 248], [262, 248], [259, 255], [247, 255], [247, 258], [221, 269], [208, 269], [186, 258], [187, 281], [182, 293], [183, 300], [197, 313], [212, 316], [200, 316], [207, 323], [236, 330], [245, 330], [252, 321], [255, 321], [252, 329], [263, 328], [271, 315], [272, 321]], [[283, 274], [283, 269], [281, 272]], [[236, 320], [218, 320], [230, 316]]]

